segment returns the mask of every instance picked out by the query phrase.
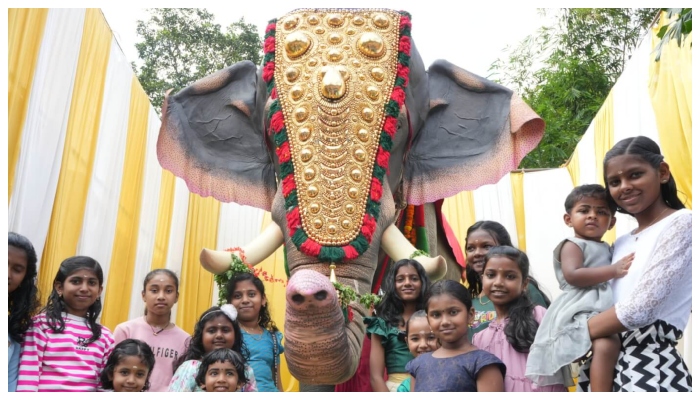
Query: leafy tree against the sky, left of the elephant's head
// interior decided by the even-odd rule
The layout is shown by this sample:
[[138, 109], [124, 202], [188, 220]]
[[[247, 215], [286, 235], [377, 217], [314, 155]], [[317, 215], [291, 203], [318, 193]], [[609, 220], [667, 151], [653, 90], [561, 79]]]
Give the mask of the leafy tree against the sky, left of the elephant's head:
[[132, 67], [159, 112], [169, 89], [180, 90], [241, 60], [260, 62], [257, 27], [243, 18], [224, 31], [203, 8], [152, 8], [149, 14], [147, 21], [137, 22], [142, 65]]

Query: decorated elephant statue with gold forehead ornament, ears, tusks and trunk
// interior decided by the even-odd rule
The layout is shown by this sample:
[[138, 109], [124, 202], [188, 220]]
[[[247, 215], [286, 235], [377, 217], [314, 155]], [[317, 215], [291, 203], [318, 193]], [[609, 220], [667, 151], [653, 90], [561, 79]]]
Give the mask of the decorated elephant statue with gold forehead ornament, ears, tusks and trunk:
[[[445, 274], [394, 225], [395, 204], [495, 183], [544, 132], [509, 89], [444, 60], [426, 71], [410, 31], [405, 12], [295, 10], [267, 26], [261, 68], [236, 63], [163, 103], [161, 165], [201, 196], [271, 211], [242, 249], [256, 264], [285, 245], [285, 356], [303, 383], [343, 382], [360, 357], [368, 311], [344, 317], [331, 275], [369, 292], [380, 249]], [[232, 254], [201, 262], [222, 274]]]

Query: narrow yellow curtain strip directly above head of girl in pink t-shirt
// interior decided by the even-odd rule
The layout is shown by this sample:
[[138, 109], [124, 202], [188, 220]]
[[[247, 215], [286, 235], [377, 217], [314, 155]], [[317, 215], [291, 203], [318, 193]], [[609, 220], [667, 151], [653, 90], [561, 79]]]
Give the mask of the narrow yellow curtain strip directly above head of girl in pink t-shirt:
[[151, 269], [167, 268], [168, 246], [170, 245], [170, 224], [173, 220], [175, 203], [175, 175], [163, 170], [160, 176], [160, 196], [158, 200], [158, 222], [153, 245]]

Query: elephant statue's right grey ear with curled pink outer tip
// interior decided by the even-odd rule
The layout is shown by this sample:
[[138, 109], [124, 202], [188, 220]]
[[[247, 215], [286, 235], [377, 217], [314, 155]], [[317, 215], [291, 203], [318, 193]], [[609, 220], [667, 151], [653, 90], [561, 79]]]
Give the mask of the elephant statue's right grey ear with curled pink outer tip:
[[510, 89], [438, 60], [430, 111], [405, 166], [409, 204], [498, 182], [544, 135], [544, 121]]

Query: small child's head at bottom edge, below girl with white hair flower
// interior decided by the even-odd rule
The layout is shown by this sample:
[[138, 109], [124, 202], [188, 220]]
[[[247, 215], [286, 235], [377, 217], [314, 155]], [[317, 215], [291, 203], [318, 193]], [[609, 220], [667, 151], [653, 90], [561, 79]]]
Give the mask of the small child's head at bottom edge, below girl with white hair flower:
[[248, 383], [243, 357], [231, 349], [216, 349], [202, 359], [197, 385], [205, 392], [236, 392]]

